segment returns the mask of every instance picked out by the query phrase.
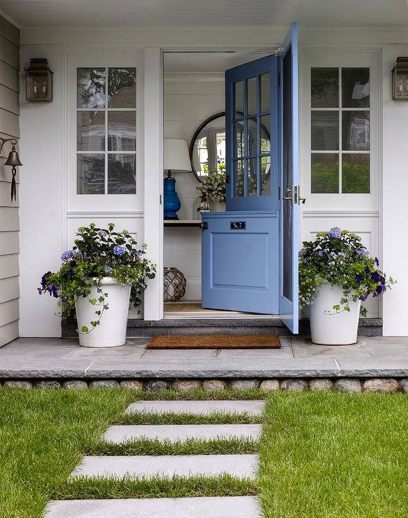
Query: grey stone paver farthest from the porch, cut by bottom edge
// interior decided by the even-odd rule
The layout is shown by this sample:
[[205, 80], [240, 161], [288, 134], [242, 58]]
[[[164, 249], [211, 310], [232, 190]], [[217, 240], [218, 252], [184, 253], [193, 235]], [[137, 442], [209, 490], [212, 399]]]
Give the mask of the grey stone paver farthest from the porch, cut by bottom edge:
[[55, 500], [45, 518], [256, 518], [262, 516], [254, 496], [209, 498], [129, 498], [122, 500]]

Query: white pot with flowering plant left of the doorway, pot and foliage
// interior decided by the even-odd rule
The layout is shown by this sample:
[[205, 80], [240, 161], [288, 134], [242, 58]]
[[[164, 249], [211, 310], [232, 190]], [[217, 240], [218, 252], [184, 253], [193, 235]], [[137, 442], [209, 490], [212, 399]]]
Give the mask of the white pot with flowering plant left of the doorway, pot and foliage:
[[146, 279], [155, 276], [155, 265], [146, 257], [146, 245], [137, 248], [134, 238], [123, 230], [78, 228], [72, 250], [62, 254], [62, 265], [41, 279], [38, 293], [59, 298], [63, 318], [76, 313], [79, 343], [85, 347], [113, 347], [125, 344], [129, 302], [141, 304]]

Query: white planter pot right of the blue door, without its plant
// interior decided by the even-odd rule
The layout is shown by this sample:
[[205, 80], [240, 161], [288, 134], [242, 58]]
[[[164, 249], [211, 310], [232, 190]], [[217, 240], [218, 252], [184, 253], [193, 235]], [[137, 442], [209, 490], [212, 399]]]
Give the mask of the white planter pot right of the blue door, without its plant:
[[361, 301], [351, 301], [350, 311], [335, 313], [333, 306], [339, 304], [343, 290], [323, 282], [319, 286], [314, 304], [309, 306], [311, 341], [314, 344], [346, 345], [357, 341], [358, 318]]

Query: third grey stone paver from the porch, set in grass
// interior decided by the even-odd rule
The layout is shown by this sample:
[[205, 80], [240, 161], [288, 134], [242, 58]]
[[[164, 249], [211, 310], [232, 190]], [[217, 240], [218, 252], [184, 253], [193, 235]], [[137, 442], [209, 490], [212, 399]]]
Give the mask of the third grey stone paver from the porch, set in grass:
[[190, 477], [222, 475], [255, 479], [258, 455], [85, 456], [71, 477]]

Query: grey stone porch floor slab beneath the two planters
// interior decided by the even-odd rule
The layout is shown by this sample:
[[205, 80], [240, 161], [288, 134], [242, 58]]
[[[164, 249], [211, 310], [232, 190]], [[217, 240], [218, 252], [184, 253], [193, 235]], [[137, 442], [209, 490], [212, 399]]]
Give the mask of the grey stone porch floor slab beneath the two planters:
[[0, 378], [408, 377], [408, 337], [346, 346], [281, 337], [281, 349], [146, 350], [148, 337], [110, 349], [74, 338], [19, 338], [0, 348]]

